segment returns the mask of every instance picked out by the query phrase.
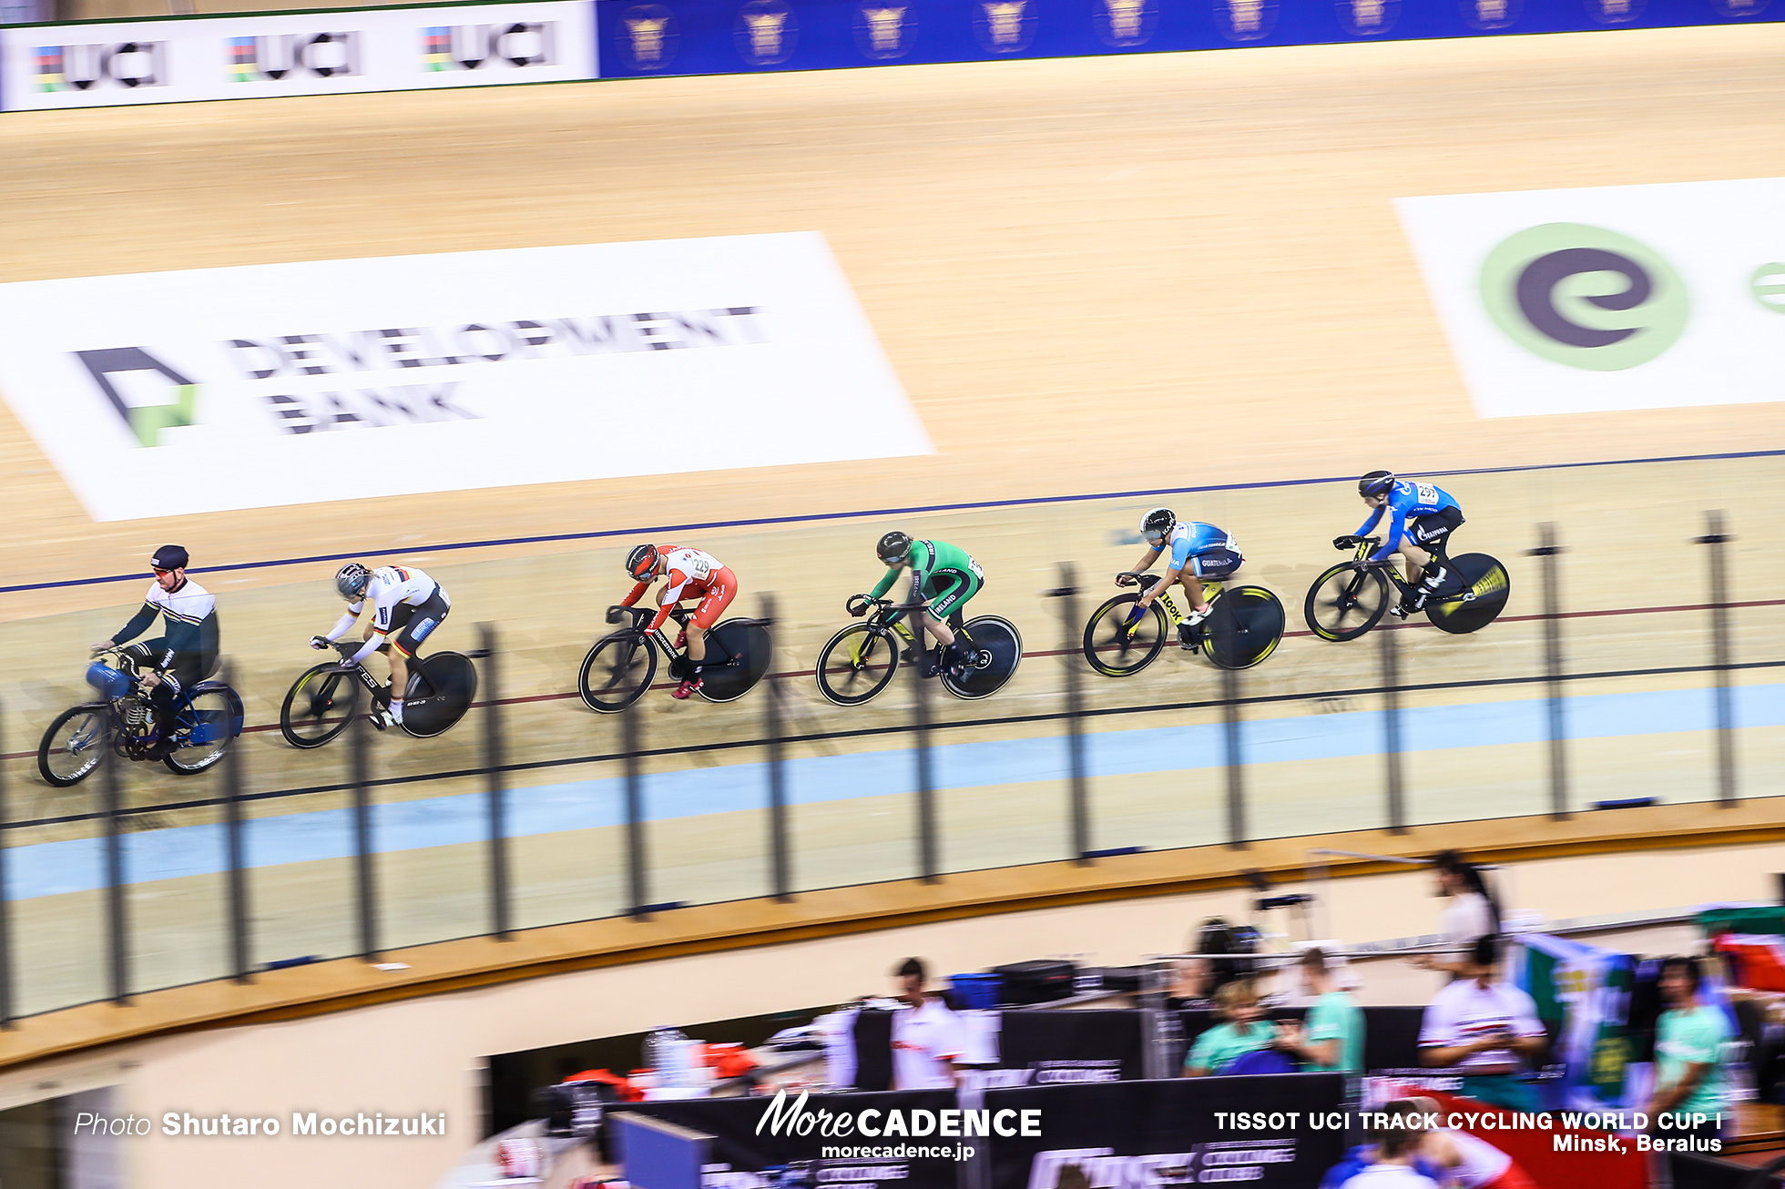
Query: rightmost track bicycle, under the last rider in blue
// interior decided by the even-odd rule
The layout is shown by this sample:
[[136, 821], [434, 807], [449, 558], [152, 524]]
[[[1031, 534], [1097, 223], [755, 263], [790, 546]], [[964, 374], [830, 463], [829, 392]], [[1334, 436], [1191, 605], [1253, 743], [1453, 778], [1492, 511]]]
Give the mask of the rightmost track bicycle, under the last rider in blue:
[[[1341, 537], [1335, 543], [1355, 548], [1357, 555], [1317, 577], [1301, 609], [1321, 639], [1342, 643], [1376, 627], [1389, 612], [1391, 587], [1403, 600], [1419, 593], [1421, 587], [1403, 578], [1392, 559], [1369, 559], [1380, 543], [1382, 537]], [[1512, 578], [1498, 559], [1487, 553], [1446, 557], [1442, 548], [1433, 548], [1432, 557], [1449, 570], [1444, 584], [1426, 594], [1424, 612], [1433, 627], [1465, 636], [1480, 632], [1505, 611]]]

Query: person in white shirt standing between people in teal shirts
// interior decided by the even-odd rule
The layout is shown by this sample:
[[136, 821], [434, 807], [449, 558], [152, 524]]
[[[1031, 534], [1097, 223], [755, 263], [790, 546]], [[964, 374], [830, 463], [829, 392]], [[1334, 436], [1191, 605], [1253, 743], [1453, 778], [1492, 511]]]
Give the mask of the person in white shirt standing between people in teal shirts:
[[1507, 1110], [1537, 1110], [1519, 1080], [1526, 1062], [1549, 1046], [1537, 1005], [1499, 982], [1499, 937], [1476, 937], [1462, 978], [1426, 1007], [1419, 1021], [1419, 1059], [1432, 1069], [1462, 1075], [1462, 1093]]

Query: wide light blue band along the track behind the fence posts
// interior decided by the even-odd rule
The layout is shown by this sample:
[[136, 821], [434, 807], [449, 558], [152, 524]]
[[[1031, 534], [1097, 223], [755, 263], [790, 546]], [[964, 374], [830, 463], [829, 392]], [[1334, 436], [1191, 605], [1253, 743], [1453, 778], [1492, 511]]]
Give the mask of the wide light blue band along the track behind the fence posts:
[[[1742, 727], [1785, 727], [1785, 684], [1739, 686], [1735, 718]], [[1710, 730], [1712, 698], [1703, 689], [1582, 694], [1567, 700], [1569, 736], [1635, 737]], [[1448, 752], [1505, 743], [1542, 743], [1548, 702], [1478, 702], [1401, 711], [1407, 752]], [[1085, 736], [1092, 777], [1157, 777], [1219, 768], [1226, 762], [1219, 723], [1148, 727]], [[1244, 723], [1250, 764], [1332, 761], [1380, 752], [1380, 711], [1264, 718]], [[950, 743], [932, 748], [939, 789], [976, 789], [1062, 780], [1064, 737]], [[898, 796], [912, 789], [912, 752], [905, 748], [789, 761], [793, 805]], [[619, 777], [519, 787], [509, 793], [509, 836], [618, 827], [625, 821]], [[766, 764], [726, 764], [644, 777], [652, 821], [762, 809]], [[373, 846], [380, 853], [482, 843], [489, 802], [482, 793], [391, 802], [373, 809]], [[227, 869], [221, 825], [173, 827], [123, 837], [125, 878], [134, 884], [218, 875]], [[320, 859], [348, 859], [353, 814], [348, 809], [255, 818], [246, 827], [246, 866], [277, 868]], [[600, 859], [593, 859], [600, 862]], [[618, 859], [616, 859], [618, 861]], [[104, 839], [68, 839], [7, 848], [7, 900], [30, 900], [105, 887]]]

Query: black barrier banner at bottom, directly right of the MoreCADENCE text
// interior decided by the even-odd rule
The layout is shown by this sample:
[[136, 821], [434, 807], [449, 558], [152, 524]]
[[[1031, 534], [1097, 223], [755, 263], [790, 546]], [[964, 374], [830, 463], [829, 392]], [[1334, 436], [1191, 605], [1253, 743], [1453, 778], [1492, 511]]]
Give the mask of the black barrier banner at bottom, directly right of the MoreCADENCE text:
[[1041, 1112], [1037, 1135], [992, 1137], [989, 1189], [1057, 1189], [1073, 1164], [1091, 1189], [1314, 1189], [1344, 1155], [1342, 1096], [1337, 1073], [987, 1091], [991, 1110]]

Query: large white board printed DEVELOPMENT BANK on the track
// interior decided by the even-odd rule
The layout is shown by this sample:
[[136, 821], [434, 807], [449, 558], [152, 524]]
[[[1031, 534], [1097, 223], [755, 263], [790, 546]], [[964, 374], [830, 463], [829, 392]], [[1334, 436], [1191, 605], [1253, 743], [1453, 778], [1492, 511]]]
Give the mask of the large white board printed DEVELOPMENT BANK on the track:
[[0, 396], [93, 520], [932, 452], [818, 232], [5, 284]]

